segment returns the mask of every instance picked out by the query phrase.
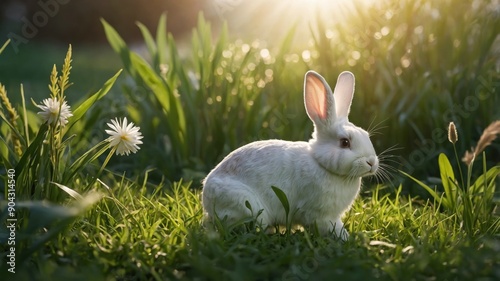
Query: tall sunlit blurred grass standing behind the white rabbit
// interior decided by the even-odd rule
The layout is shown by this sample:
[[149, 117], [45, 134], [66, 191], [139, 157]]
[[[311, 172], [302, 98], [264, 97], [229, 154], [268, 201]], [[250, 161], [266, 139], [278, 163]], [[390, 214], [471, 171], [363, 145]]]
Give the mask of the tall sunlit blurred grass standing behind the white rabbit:
[[[294, 47], [292, 27], [273, 47], [234, 40], [225, 26], [213, 39], [210, 23], [200, 16], [190, 53], [182, 56], [162, 18], [155, 37], [139, 24], [148, 61], [104, 22], [134, 81], [125, 87], [129, 110], [155, 139], [150, 149], [158, 161], [150, 159], [151, 166], [170, 179], [199, 178], [243, 143], [307, 139], [302, 76], [316, 69], [331, 83], [342, 70], [352, 71], [352, 121], [362, 127], [381, 123], [391, 138], [375, 136], [377, 150], [397, 145], [404, 155], [397, 168], [432, 174], [437, 166], [427, 162], [446, 141], [441, 128], [455, 121], [460, 133], [475, 136], [480, 124], [498, 115], [497, 10], [472, 0], [361, 2], [354, 1], [345, 20], [333, 26], [319, 18], [307, 49]], [[472, 144], [459, 145], [465, 150]]]

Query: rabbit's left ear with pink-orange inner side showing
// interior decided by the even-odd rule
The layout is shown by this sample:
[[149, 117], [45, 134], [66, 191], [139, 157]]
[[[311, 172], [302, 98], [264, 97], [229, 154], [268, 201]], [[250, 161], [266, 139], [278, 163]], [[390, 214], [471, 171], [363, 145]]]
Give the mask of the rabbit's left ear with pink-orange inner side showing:
[[314, 124], [324, 126], [334, 121], [336, 115], [332, 90], [325, 79], [314, 71], [308, 71], [304, 79], [304, 103], [307, 115]]

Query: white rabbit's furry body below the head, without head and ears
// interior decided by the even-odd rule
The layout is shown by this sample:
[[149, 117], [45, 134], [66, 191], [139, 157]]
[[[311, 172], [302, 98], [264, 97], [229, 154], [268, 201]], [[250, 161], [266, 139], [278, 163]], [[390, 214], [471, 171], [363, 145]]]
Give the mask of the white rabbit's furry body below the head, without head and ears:
[[361, 178], [345, 181], [321, 167], [307, 142], [257, 141], [229, 154], [210, 173], [203, 201], [213, 202], [205, 204], [206, 212], [217, 211], [220, 218], [250, 217], [263, 210], [258, 217], [263, 225], [286, 225], [285, 210], [271, 188], [276, 186], [287, 196], [293, 224], [309, 226], [316, 222], [326, 234], [334, 224], [342, 228], [340, 216], [352, 204], [360, 184]]

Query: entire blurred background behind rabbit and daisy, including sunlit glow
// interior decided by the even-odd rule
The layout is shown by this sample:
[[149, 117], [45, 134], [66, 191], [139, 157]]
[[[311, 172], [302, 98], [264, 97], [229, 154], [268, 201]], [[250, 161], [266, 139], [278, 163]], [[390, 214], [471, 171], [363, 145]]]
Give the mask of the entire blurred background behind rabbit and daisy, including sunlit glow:
[[[363, 128], [378, 124], [377, 151], [395, 146], [385, 159], [396, 181], [397, 169], [438, 175], [436, 156], [452, 149], [448, 122], [457, 124], [462, 154], [500, 119], [498, 1], [49, 2], [49, 10], [27, 0], [0, 4], [2, 41], [21, 36], [26, 20], [43, 23], [47, 15], [36, 36], [12, 42], [0, 56], [0, 81], [13, 101], [19, 101], [20, 83], [28, 99], [40, 101], [48, 95], [53, 63], [62, 62], [72, 44], [75, 85], [68, 100], [76, 103], [125, 67], [128, 74], [95, 111], [130, 115], [143, 128], [145, 145], [127, 168], [155, 169], [153, 179], [198, 182], [244, 143], [306, 140], [312, 124], [301, 91], [308, 69], [332, 86], [343, 70], [356, 75], [350, 119]], [[152, 51], [136, 22], [155, 34], [162, 13], [171, 38]], [[187, 124], [172, 120], [154, 87], [134, 74], [136, 66], [110, 48], [100, 18], [166, 79], [165, 93], [178, 100]], [[177, 142], [176, 130], [183, 131]], [[498, 144], [487, 153], [489, 162], [500, 162]]]

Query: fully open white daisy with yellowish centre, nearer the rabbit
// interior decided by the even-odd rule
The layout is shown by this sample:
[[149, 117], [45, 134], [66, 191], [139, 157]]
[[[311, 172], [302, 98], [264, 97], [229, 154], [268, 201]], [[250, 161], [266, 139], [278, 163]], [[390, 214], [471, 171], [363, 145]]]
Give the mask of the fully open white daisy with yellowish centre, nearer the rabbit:
[[126, 117], [121, 122], [115, 118], [107, 124], [111, 128], [111, 130], [106, 130], [106, 133], [110, 135], [108, 141], [111, 147], [116, 147], [117, 155], [129, 155], [130, 152], [136, 153], [139, 150], [138, 145], [142, 144], [143, 138], [139, 127], [134, 126], [132, 122], [128, 123]]

